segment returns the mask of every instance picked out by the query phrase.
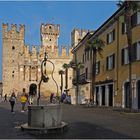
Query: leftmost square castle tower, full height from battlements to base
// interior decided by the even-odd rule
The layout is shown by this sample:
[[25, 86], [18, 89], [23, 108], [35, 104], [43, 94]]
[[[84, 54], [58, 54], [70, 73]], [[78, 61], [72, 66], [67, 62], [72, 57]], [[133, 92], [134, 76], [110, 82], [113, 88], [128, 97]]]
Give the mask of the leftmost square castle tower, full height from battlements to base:
[[17, 94], [19, 89], [19, 68], [18, 61], [23, 52], [24, 46], [24, 25], [20, 25], [17, 31], [16, 24], [11, 25], [8, 31], [8, 24], [2, 25], [2, 81], [3, 93], [11, 94], [14, 90]]

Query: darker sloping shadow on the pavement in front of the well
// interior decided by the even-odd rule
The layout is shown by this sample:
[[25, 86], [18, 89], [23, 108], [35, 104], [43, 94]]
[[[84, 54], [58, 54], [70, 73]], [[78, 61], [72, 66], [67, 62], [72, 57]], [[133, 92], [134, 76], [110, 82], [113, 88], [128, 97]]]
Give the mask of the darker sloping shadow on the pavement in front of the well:
[[40, 139], [120, 139], [132, 138], [87, 122], [70, 123], [63, 134], [37, 135]]

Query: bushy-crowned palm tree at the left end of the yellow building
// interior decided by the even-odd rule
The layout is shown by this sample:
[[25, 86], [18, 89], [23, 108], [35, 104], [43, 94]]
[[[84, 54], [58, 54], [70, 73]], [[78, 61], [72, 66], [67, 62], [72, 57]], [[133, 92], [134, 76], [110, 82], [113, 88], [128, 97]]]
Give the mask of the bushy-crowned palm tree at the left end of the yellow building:
[[105, 42], [99, 38], [95, 38], [93, 40], [87, 41], [85, 46], [85, 53], [90, 52], [91, 56], [91, 90], [90, 90], [90, 101], [94, 102], [94, 89], [95, 89], [95, 80], [96, 80], [96, 58], [97, 53], [102, 56], [101, 52], [103, 51], [103, 47], [105, 46]]

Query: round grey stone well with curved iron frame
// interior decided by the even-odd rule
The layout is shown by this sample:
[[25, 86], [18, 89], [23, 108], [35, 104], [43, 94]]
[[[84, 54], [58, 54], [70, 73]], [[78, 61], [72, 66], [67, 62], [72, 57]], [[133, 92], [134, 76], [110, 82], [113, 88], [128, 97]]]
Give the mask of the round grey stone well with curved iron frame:
[[[28, 123], [21, 125], [22, 130], [28, 130], [32, 132], [35, 130], [43, 133], [58, 132], [59, 130], [60, 132], [63, 132], [67, 126], [67, 123], [62, 122], [62, 106], [60, 103], [40, 105], [41, 83], [48, 82], [49, 80], [48, 76], [46, 76], [43, 73], [43, 66], [44, 64], [46, 65], [46, 61], [52, 63], [50, 60], [48, 60], [47, 54], [45, 52], [44, 60], [41, 63], [41, 80], [38, 85], [37, 105], [28, 106]], [[58, 88], [57, 88], [57, 93], [58, 93]]]

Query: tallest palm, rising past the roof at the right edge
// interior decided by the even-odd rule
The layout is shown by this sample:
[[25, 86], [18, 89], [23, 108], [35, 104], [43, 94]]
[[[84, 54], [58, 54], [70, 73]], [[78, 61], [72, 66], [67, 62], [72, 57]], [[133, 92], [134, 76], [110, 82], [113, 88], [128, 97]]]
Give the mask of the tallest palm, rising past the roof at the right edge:
[[131, 15], [132, 12], [137, 12], [140, 8], [138, 1], [119, 1], [117, 4], [119, 7], [124, 7], [124, 20], [126, 23], [126, 36], [128, 42], [128, 54], [129, 54], [129, 108], [132, 108], [132, 26]]

